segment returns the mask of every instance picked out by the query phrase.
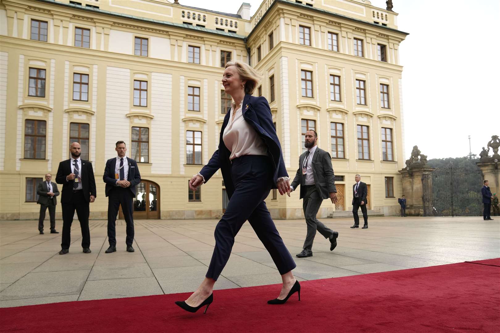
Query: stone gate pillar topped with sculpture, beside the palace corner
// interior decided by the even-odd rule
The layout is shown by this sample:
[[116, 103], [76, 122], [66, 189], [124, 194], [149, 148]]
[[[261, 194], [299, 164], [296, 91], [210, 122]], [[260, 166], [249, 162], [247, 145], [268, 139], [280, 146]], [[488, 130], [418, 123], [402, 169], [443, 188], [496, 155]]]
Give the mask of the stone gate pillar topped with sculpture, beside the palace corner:
[[417, 146], [406, 160], [406, 168], [399, 170], [402, 176], [402, 190], [406, 197], [406, 215], [432, 215], [432, 177], [433, 168], [427, 165], [427, 156], [420, 154]]

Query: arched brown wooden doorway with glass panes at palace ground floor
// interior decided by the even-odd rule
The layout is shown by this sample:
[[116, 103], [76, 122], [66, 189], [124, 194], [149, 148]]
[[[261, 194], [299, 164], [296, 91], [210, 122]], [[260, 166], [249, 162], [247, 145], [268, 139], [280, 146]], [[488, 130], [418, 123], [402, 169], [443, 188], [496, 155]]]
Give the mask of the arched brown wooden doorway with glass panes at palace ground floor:
[[[137, 194], [133, 199], [133, 218], [134, 219], [159, 219], [159, 186], [149, 180], [141, 180], [137, 184]], [[123, 219], [121, 206], [119, 210], [119, 219]]]

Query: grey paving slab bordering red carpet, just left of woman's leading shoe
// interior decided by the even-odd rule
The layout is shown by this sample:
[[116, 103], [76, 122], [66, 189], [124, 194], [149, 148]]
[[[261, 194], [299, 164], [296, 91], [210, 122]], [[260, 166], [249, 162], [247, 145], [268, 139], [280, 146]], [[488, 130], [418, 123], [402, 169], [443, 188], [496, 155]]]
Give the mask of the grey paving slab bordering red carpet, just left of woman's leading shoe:
[[163, 294], [155, 278], [87, 281], [78, 301]]

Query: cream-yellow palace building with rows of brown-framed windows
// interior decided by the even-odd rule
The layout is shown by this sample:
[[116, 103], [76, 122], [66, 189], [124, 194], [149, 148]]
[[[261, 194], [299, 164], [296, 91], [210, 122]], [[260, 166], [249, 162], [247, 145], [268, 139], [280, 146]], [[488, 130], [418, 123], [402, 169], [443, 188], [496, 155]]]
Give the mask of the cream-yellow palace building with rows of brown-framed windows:
[[[118, 140], [139, 162], [135, 218], [220, 217], [220, 172], [199, 192], [187, 183], [217, 149], [230, 59], [262, 73], [254, 94], [269, 101], [291, 178], [307, 129], [330, 153], [340, 200], [320, 217], [351, 209], [355, 174], [370, 210], [397, 214], [407, 35], [397, 13], [368, 0], [264, 0], [249, 13], [248, 3], [230, 14], [166, 0], [0, 0], [0, 220], [37, 219], [36, 186], [74, 141], [94, 168], [90, 218], [106, 218], [102, 174]], [[266, 203], [273, 218], [302, 216], [298, 193], [271, 191]]]

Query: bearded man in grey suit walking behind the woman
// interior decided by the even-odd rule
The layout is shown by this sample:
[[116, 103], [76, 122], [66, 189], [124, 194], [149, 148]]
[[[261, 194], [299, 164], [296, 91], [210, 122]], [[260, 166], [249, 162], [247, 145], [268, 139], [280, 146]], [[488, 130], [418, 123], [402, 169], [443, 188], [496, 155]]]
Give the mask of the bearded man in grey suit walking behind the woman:
[[296, 255], [298, 258], [312, 256], [312, 242], [316, 236], [316, 230], [330, 241], [330, 251], [337, 246], [338, 232], [332, 231], [318, 219], [317, 211], [323, 199], [331, 199], [332, 203], [337, 202], [335, 180], [331, 157], [326, 151], [317, 145], [317, 133], [313, 130], [305, 132], [305, 148], [307, 151], [300, 155], [298, 159], [298, 170], [290, 185], [290, 192], [300, 185], [300, 199], [304, 211], [307, 234], [303, 245], [303, 250]]

